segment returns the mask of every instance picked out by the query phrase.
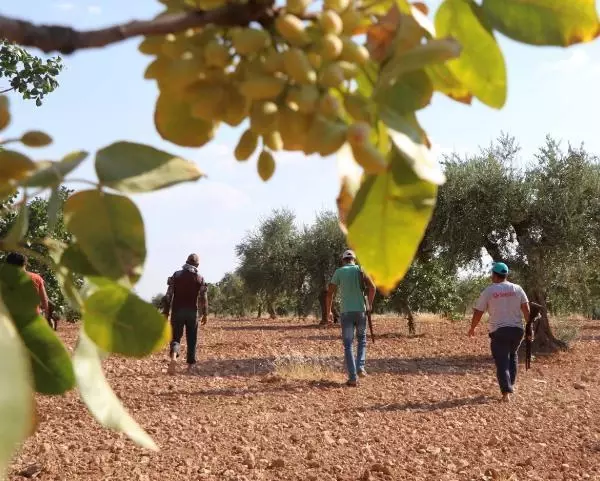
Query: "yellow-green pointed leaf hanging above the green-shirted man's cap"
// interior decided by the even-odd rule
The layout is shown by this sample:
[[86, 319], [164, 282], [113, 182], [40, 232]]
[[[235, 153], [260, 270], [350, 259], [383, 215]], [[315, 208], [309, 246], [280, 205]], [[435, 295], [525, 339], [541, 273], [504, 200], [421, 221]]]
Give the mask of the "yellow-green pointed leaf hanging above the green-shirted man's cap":
[[348, 243], [384, 295], [409, 269], [437, 193], [396, 146], [390, 155], [391, 170], [365, 179], [347, 218]]

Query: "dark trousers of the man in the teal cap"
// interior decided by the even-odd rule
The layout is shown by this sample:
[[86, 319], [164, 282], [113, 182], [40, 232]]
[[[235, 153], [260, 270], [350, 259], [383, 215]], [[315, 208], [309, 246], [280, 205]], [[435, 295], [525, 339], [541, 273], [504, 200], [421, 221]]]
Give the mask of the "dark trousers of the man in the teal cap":
[[517, 381], [517, 351], [523, 340], [524, 330], [520, 327], [501, 327], [490, 333], [490, 347], [496, 363], [496, 377], [500, 391], [512, 393]]

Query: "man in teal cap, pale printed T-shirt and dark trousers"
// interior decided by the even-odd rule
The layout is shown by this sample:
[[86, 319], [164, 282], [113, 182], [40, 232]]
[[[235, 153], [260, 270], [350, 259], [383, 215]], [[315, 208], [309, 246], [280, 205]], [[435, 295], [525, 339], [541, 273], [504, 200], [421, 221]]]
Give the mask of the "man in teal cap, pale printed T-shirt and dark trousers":
[[488, 312], [488, 328], [491, 349], [496, 363], [496, 375], [502, 392], [502, 401], [510, 401], [517, 380], [517, 351], [525, 330], [521, 314], [529, 318], [529, 301], [523, 288], [506, 280], [508, 266], [495, 262], [492, 266], [492, 284], [479, 296], [473, 309], [473, 319], [469, 336], [475, 335], [475, 328], [484, 312]]

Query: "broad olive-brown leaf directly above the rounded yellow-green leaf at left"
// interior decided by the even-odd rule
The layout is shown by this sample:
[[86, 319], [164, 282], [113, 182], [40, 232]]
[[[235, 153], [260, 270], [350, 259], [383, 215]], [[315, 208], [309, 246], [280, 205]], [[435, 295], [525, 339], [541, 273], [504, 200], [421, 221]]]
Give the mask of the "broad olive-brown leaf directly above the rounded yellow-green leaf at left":
[[146, 258], [144, 221], [127, 197], [84, 190], [69, 197], [65, 222], [89, 263], [111, 279], [139, 279]]

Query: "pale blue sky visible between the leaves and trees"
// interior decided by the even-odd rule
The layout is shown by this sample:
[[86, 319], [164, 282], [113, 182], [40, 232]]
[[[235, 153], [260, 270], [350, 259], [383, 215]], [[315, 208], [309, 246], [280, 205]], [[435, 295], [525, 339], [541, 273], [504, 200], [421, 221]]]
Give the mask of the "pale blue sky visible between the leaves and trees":
[[[20, 0], [5, 2], [3, 15], [33, 22], [98, 28], [161, 11], [153, 0]], [[426, 2], [432, 9], [439, 2]], [[600, 3], [600, 0], [599, 2]], [[153, 124], [157, 88], [143, 79], [150, 57], [137, 51], [140, 39], [64, 58], [60, 88], [43, 107], [11, 97], [13, 123], [8, 133], [36, 128], [54, 144], [31, 151], [34, 158], [58, 159], [65, 153], [90, 152], [116, 140], [143, 142], [198, 163], [208, 175], [195, 184], [135, 196], [146, 224], [148, 258], [137, 290], [145, 298], [164, 290], [166, 278], [190, 252], [198, 252], [201, 270], [214, 282], [235, 268], [235, 244], [273, 208], [293, 209], [308, 223], [323, 209], [334, 209], [338, 192], [333, 158], [277, 155], [274, 177], [263, 183], [255, 159], [239, 164], [232, 155], [241, 130], [222, 127], [201, 149], [183, 149], [163, 141]], [[420, 113], [436, 155], [476, 151], [501, 131], [519, 140], [523, 161], [546, 134], [565, 144], [584, 142], [600, 153], [600, 43], [569, 49], [532, 48], [500, 39], [508, 66], [508, 100], [495, 111], [477, 102], [464, 106], [441, 95]], [[1, 85], [0, 85], [1, 87]], [[90, 159], [76, 177], [94, 177]]]

